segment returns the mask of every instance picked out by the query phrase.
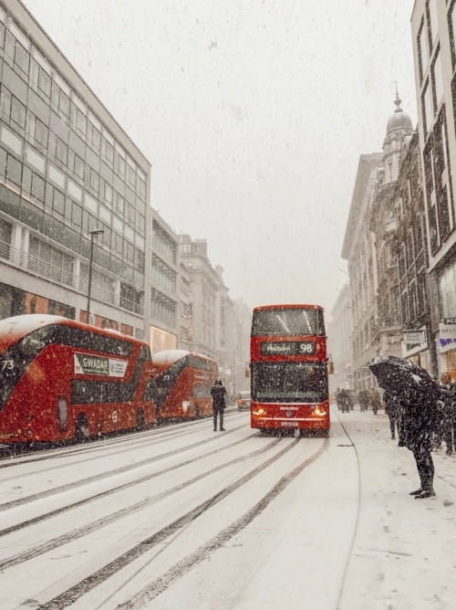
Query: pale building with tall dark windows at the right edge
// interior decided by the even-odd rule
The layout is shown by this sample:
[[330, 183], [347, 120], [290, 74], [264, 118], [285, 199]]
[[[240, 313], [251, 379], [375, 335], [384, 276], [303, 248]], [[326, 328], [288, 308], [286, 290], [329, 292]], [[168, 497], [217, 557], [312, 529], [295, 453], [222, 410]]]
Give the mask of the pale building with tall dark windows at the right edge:
[[411, 17], [429, 256], [430, 340], [456, 374], [456, 3], [416, 0]]

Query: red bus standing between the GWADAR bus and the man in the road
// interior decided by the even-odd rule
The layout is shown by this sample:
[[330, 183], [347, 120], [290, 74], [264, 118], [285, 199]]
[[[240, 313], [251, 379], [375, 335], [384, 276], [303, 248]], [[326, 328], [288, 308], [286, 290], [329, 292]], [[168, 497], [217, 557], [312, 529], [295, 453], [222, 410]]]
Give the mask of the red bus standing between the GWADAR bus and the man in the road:
[[150, 392], [159, 420], [212, 415], [211, 387], [219, 370], [215, 361], [186, 350], [157, 352], [152, 360]]

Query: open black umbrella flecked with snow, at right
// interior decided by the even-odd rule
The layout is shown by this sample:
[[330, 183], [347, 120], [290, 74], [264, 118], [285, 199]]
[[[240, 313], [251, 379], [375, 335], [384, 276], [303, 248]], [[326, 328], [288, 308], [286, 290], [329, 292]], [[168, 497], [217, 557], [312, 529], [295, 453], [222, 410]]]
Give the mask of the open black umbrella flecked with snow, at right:
[[407, 395], [410, 390], [428, 393], [436, 389], [430, 374], [418, 364], [396, 356], [377, 356], [369, 369], [377, 378], [378, 385], [396, 394]]

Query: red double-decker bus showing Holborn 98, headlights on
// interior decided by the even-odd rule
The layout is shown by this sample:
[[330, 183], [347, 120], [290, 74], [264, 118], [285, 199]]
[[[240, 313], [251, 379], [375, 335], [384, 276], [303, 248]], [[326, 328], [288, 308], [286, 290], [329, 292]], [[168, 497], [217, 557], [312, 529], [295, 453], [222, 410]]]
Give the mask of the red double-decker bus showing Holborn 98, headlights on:
[[324, 310], [318, 305], [254, 309], [250, 345], [251, 426], [264, 433], [329, 431]]

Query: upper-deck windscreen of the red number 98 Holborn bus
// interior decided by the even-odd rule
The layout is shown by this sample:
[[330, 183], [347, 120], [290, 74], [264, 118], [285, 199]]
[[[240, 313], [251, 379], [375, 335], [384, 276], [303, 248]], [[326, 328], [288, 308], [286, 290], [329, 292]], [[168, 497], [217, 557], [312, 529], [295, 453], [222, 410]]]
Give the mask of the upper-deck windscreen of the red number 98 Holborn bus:
[[313, 309], [257, 310], [254, 313], [252, 336], [325, 335], [323, 312]]

